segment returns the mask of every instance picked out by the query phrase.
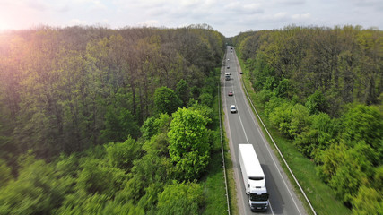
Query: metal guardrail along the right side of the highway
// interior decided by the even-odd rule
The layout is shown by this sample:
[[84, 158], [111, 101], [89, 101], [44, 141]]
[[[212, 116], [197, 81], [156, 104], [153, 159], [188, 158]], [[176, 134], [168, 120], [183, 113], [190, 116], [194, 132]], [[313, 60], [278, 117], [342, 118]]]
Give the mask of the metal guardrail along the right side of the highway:
[[[235, 56], [237, 56], [237, 55], [235, 55]], [[237, 61], [237, 64], [238, 64], [238, 66], [239, 66], [239, 69], [242, 70], [242, 69], [240, 68], [240, 64], [239, 64], [239, 61], [238, 61], [238, 57], [236, 57], [236, 61]], [[298, 185], [298, 187], [300, 188], [300, 192], [301, 192], [301, 193], [303, 194], [303, 196], [305, 197], [306, 202], [309, 203], [309, 207], [310, 207], [311, 211], [312, 211], [315, 215], [317, 215], [317, 212], [316, 212], [316, 211], [314, 210], [314, 208], [312, 207], [311, 202], [309, 202], [309, 198], [307, 197], [306, 193], [303, 191], [303, 189], [302, 189], [302, 187], [300, 186], [300, 183], [298, 182], [297, 178], [296, 178], [296, 177], [294, 176], [294, 174], [292, 173], [292, 169], [291, 169], [291, 168], [289, 167], [289, 165], [287, 164], [286, 159], [284, 159], [281, 150], [279, 150], [278, 146], [277, 146], [276, 143], [274, 142], [274, 139], [273, 139], [272, 135], [271, 135], [271, 134], [269, 133], [269, 131], [267, 130], [267, 128], [266, 128], [264, 122], [262, 121], [261, 116], [258, 115], [257, 109], [256, 109], [256, 107], [254, 106], [253, 101], [250, 99], [250, 96], [248, 95], [248, 89], [246, 89], [246, 84], [245, 84], [245, 82], [243, 81], [242, 78], [241, 78], [241, 81], [242, 81], [242, 86], [244, 87], [244, 90], [245, 90], [245, 92], [246, 92], [246, 95], [248, 96], [248, 101], [250, 101], [251, 107], [253, 107], [254, 111], [255, 111], [256, 114], [257, 114], [257, 117], [258, 117], [259, 121], [260, 121], [261, 124], [264, 126], [266, 133], [267, 133], [268, 136], [270, 137], [271, 141], [274, 143], [274, 146], [275, 146], [276, 150], [278, 150], [278, 153], [279, 153], [279, 155], [281, 156], [281, 158], [283, 159], [283, 162], [284, 162], [284, 164], [286, 165], [286, 167], [289, 169], [290, 174], [292, 175], [292, 178], [294, 178], [295, 183], [296, 183], [296, 184]]]

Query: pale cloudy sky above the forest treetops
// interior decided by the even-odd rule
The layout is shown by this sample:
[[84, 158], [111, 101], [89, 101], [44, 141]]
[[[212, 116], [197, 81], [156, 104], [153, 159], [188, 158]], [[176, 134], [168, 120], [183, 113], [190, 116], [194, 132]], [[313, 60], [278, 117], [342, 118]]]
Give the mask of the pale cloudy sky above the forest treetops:
[[0, 30], [41, 25], [178, 28], [203, 23], [225, 37], [288, 25], [383, 30], [383, 0], [0, 0]]

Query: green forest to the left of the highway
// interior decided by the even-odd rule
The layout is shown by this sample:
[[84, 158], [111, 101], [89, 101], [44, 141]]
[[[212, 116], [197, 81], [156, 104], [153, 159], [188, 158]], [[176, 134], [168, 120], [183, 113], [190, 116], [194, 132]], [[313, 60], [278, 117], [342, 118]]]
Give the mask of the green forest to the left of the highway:
[[225, 212], [224, 48], [205, 24], [2, 32], [0, 214]]

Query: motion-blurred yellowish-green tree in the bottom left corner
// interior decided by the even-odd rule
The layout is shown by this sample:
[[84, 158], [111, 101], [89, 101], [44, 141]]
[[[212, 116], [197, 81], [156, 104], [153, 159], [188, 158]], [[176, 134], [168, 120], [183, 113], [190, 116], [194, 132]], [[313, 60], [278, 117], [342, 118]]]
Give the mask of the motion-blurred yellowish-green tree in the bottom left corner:
[[19, 176], [0, 187], [3, 214], [49, 214], [73, 192], [74, 179], [57, 176], [52, 165], [30, 155], [20, 159]]

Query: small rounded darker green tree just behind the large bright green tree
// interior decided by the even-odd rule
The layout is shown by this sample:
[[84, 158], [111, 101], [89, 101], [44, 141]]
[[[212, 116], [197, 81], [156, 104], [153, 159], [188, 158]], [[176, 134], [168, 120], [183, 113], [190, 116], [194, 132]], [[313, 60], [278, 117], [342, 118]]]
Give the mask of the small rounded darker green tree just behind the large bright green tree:
[[158, 88], [154, 92], [154, 108], [157, 114], [171, 115], [181, 107], [181, 104], [182, 101], [178, 99], [176, 93], [167, 87]]

